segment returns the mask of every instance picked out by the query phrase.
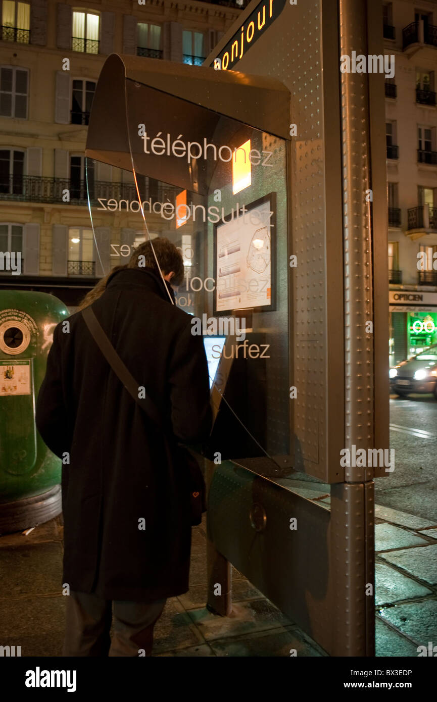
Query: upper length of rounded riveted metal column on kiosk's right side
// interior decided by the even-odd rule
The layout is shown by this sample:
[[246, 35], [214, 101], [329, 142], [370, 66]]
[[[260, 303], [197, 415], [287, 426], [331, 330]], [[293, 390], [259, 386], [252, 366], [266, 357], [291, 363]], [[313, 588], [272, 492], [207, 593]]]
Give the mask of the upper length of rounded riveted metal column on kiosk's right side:
[[[340, 0], [340, 55], [367, 58], [365, 0]], [[352, 64], [352, 61], [351, 61]], [[351, 65], [352, 68], [352, 65]], [[345, 448], [373, 444], [372, 245], [367, 72], [341, 74], [344, 234]], [[366, 197], [367, 196], [367, 197]], [[346, 468], [346, 482], [372, 479]]]

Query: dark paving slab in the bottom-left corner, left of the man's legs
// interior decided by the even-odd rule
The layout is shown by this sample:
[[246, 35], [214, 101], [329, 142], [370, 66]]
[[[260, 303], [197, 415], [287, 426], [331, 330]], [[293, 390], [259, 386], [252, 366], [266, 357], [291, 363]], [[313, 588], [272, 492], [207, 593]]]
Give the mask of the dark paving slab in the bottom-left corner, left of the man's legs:
[[21, 646], [22, 657], [60, 656], [66, 597], [0, 602], [1, 645]]

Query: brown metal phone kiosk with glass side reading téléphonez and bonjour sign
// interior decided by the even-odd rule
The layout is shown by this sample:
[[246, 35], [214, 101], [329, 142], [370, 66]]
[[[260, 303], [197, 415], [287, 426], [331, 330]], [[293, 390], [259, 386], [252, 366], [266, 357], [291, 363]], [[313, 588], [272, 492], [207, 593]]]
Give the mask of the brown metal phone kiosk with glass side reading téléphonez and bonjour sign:
[[148, 238], [183, 254], [215, 418], [208, 607], [230, 613], [232, 563], [334, 656], [374, 654], [386, 473], [340, 457], [389, 441], [384, 77], [339, 55], [382, 53], [380, 11], [254, 0], [202, 67], [111, 55], [86, 144], [102, 272]]

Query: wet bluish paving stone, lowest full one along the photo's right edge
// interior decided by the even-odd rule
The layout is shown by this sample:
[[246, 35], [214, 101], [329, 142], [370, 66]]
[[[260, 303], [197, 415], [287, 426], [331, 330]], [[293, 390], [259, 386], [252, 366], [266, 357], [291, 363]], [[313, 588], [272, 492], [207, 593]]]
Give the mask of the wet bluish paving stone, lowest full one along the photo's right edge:
[[380, 609], [379, 614], [417, 642], [417, 646], [437, 642], [437, 600], [395, 604]]

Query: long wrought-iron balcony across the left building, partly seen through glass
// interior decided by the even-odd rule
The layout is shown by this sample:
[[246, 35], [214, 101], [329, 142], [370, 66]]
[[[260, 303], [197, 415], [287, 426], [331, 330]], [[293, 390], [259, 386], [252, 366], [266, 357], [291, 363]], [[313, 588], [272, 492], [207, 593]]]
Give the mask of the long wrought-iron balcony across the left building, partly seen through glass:
[[[143, 180], [143, 182], [141, 182]], [[173, 199], [180, 189], [173, 185], [164, 185], [157, 180], [145, 180], [138, 177], [138, 187], [144, 200], [150, 197], [152, 201], [164, 202], [167, 197]], [[64, 191], [70, 192], [70, 201], [63, 201]], [[96, 180], [91, 187], [91, 205], [101, 207], [98, 198], [103, 200], [137, 201], [134, 183], [112, 183], [105, 180]], [[85, 180], [70, 180], [70, 178], [41, 178], [39, 176], [0, 176], [0, 201], [15, 202], [44, 202], [57, 205], [87, 206]], [[120, 207], [126, 210], [126, 204]], [[130, 211], [136, 211], [132, 209]]]

